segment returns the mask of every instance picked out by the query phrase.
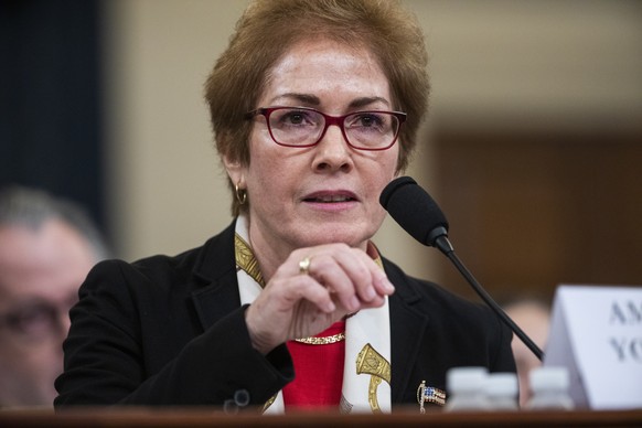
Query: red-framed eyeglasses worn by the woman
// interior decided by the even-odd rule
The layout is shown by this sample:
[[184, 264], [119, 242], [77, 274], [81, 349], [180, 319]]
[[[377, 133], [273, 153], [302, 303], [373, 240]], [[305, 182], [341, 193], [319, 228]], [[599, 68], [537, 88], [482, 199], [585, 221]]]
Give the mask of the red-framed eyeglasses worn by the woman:
[[308, 107], [266, 107], [249, 111], [266, 118], [272, 140], [286, 147], [311, 147], [323, 138], [328, 127], [336, 125], [343, 138], [354, 149], [386, 150], [394, 146], [406, 114], [400, 111], [354, 111], [330, 116]]

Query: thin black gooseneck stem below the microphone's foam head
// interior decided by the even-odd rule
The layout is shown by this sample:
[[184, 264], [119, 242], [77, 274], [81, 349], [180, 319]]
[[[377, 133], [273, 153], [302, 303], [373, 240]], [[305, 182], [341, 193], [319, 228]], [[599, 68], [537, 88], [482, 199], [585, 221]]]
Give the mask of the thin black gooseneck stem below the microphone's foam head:
[[[491, 309], [493, 311], [495, 311], [495, 313], [500, 317], [500, 319], [506, 325], [509, 325], [509, 328], [517, 335], [517, 338], [520, 338], [520, 340], [522, 342], [524, 342], [524, 344], [535, 354], [535, 356], [539, 361], [542, 361], [542, 359], [544, 357], [544, 353], [542, 352], [539, 346], [537, 346], [535, 344], [535, 342], [533, 342], [531, 340], [531, 338], [528, 338], [526, 335], [526, 333], [524, 333], [524, 331], [522, 329], [520, 329], [520, 327], [513, 320], [511, 320], [511, 318], [506, 314], [506, 312], [504, 312], [504, 310], [502, 308], [500, 308], [500, 306], [482, 288], [482, 286], [478, 282], [478, 280], [472, 276], [470, 270], [468, 270], [467, 267], [463, 265], [463, 263], [459, 259], [459, 257], [454, 253], [454, 248], [452, 247], [452, 244], [450, 244], [450, 240], [448, 239], [446, 228], [445, 227], [437, 227], [436, 229], [434, 229], [430, 233], [430, 235], [431, 236], [429, 237], [429, 242], [430, 240], [434, 242], [432, 245], [435, 247], [439, 248], [439, 250], [441, 253], [443, 253], [446, 255], [446, 257], [448, 257], [450, 259], [450, 261], [452, 261], [452, 264], [457, 267], [459, 272], [466, 278], [468, 283], [470, 283], [470, 286], [483, 299], [483, 301], [485, 301], [486, 304], [489, 307], [491, 307]], [[432, 239], [430, 239], [430, 238], [432, 238]]]

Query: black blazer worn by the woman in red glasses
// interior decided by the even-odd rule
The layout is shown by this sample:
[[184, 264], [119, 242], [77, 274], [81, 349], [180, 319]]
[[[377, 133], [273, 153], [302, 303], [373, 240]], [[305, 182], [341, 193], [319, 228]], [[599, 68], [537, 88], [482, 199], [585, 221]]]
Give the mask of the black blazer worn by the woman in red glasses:
[[[417, 403], [421, 381], [446, 389], [450, 367], [514, 372], [511, 331], [486, 307], [405, 275], [384, 259], [393, 405]], [[285, 345], [249, 341], [234, 260], [234, 224], [174, 257], [103, 261], [81, 287], [56, 381], [65, 405], [222, 405], [246, 389], [260, 406], [295, 376]]]

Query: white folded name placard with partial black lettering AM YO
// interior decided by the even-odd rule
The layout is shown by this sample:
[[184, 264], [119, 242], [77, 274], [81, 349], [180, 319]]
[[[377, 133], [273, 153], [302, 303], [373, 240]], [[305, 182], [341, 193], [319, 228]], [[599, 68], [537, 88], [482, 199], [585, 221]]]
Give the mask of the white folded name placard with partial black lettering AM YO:
[[544, 357], [578, 408], [642, 408], [642, 288], [559, 286]]

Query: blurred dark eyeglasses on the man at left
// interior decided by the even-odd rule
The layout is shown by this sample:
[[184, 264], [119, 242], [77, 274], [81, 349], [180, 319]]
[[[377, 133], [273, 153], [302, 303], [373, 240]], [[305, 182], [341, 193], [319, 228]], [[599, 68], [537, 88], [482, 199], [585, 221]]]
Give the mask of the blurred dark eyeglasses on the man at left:
[[73, 296], [68, 301], [58, 304], [46, 300], [18, 304], [0, 314], [0, 329], [26, 340], [47, 338], [60, 332], [61, 318], [68, 317], [69, 309], [77, 300], [77, 297]]

